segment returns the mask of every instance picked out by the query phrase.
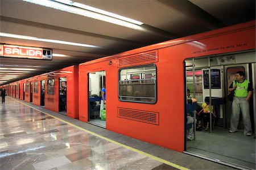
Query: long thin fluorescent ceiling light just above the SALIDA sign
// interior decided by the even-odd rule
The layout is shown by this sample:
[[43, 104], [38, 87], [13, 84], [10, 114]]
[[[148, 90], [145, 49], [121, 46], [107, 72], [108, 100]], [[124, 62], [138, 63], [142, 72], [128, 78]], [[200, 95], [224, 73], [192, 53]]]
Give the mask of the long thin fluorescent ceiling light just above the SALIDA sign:
[[60, 41], [60, 40], [42, 39], [42, 38], [36, 38], [34, 36], [9, 34], [9, 33], [5, 33], [5, 32], [0, 32], [0, 36], [4, 36], [4, 37], [8, 37], [8, 38], [24, 39], [24, 40], [34, 40], [34, 41], [39, 41], [39, 42], [48, 42], [48, 43], [57, 43], [57, 44], [66, 44], [66, 45], [76, 45], [76, 46], [90, 47], [90, 48], [100, 48], [100, 47], [98, 47], [96, 45], [64, 42], [64, 41]]

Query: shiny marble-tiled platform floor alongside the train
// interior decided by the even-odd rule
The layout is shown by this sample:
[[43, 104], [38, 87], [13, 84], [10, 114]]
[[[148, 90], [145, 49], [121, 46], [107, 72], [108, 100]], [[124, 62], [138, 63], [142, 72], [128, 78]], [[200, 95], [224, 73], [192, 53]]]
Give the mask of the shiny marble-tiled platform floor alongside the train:
[[0, 169], [234, 169], [15, 99], [0, 103]]

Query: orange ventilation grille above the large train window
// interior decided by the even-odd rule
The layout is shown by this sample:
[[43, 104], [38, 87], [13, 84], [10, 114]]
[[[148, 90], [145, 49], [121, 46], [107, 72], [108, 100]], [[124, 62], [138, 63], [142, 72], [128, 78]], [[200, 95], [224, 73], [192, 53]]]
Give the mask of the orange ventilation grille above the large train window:
[[154, 50], [121, 57], [118, 59], [118, 67], [128, 67], [132, 65], [142, 65], [156, 62], [158, 62], [158, 51]]

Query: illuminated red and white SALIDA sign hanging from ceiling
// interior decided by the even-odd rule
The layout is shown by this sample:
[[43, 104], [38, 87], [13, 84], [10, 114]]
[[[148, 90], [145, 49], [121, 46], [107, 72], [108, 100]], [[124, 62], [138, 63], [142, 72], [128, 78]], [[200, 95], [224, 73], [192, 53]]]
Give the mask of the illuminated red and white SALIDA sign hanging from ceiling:
[[0, 45], [0, 56], [52, 60], [52, 50], [48, 48], [23, 47], [17, 45]]

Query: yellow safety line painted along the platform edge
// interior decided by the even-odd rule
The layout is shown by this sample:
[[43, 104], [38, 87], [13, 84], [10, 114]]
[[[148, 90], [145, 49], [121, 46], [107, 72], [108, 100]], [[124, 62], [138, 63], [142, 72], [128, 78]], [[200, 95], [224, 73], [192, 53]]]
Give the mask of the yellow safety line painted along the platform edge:
[[[15, 98], [15, 100], [16, 100], [16, 98]], [[18, 100], [16, 100], [16, 101], [18, 101]], [[20, 102], [20, 101], [18, 101], [18, 102]], [[74, 124], [72, 124], [72, 123], [70, 123], [70, 122], [64, 121], [63, 119], [60, 119], [60, 118], [57, 118], [57, 117], [55, 117], [55, 116], [53, 116], [53, 115], [51, 115], [51, 114], [45, 113], [44, 111], [39, 110], [39, 109], [36, 109], [35, 107], [32, 107], [32, 106], [30, 106], [30, 105], [27, 105], [26, 103], [23, 103], [23, 102], [20, 102], [20, 103], [22, 103], [23, 105], [26, 105], [26, 106], [28, 106], [28, 107], [31, 107], [32, 109], [38, 110], [38, 111], [40, 111], [40, 112], [42, 112], [42, 113], [44, 113], [44, 114], [47, 114], [47, 115], [49, 115], [49, 116], [51, 116], [51, 117], [53, 117], [53, 118], [55, 118], [55, 119], [58, 119], [58, 120], [61, 121], [61, 122], [67, 123], [68, 125], [71, 125], [71, 126], [74, 126], [74, 127], [76, 127], [76, 128], [79, 128], [79, 129], [82, 130], [82, 131], [88, 132], [89, 134], [92, 134], [92, 135], [94, 135], [94, 136], [97, 136], [97, 137], [99, 137], [99, 138], [101, 138], [101, 139], [108, 140], [109, 142], [118, 144], [119, 146], [125, 147], [125, 148], [127, 148], [128, 150], [137, 152], [138, 154], [145, 155], [145, 156], [147, 156], [147, 157], [150, 157], [150, 158], [152, 158], [152, 159], [154, 159], [154, 160], [160, 161], [160, 162], [162, 162], [162, 163], [164, 163], [164, 164], [170, 165], [170, 166], [175, 167], [175, 168], [177, 168], [177, 169], [181, 169], [181, 170], [187, 170], [187, 169], [188, 169], [188, 168], [185, 168], [185, 167], [181, 167], [180, 165], [176, 165], [176, 164], [174, 164], [174, 163], [171, 163], [170, 161], [167, 161], [167, 160], [161, 159], [161, 158], [159, 158], [159, 157], [156, 157], [156, 156], [154, 156], [154, 155], [147, 154], [146, 152], [139, 151], [139, 150], [137, 150], [137, 149], [135, 149], [135, 148], [126, 146], [125, 144], [116, 142], [116, 141], [114, 141], [114, 140], [112, 140], [112, 139], [109, 139], [109, 138], [106, 138], [106, 137], [104, 137], [104, 136], [98, 135], [98, 134], [96, 134], [96, 133], [94, 133], [94, 132], [92, 132], [92, 131], [86, 130], [85, 128], [76, 126], [76, 125], [74, 125]]]

